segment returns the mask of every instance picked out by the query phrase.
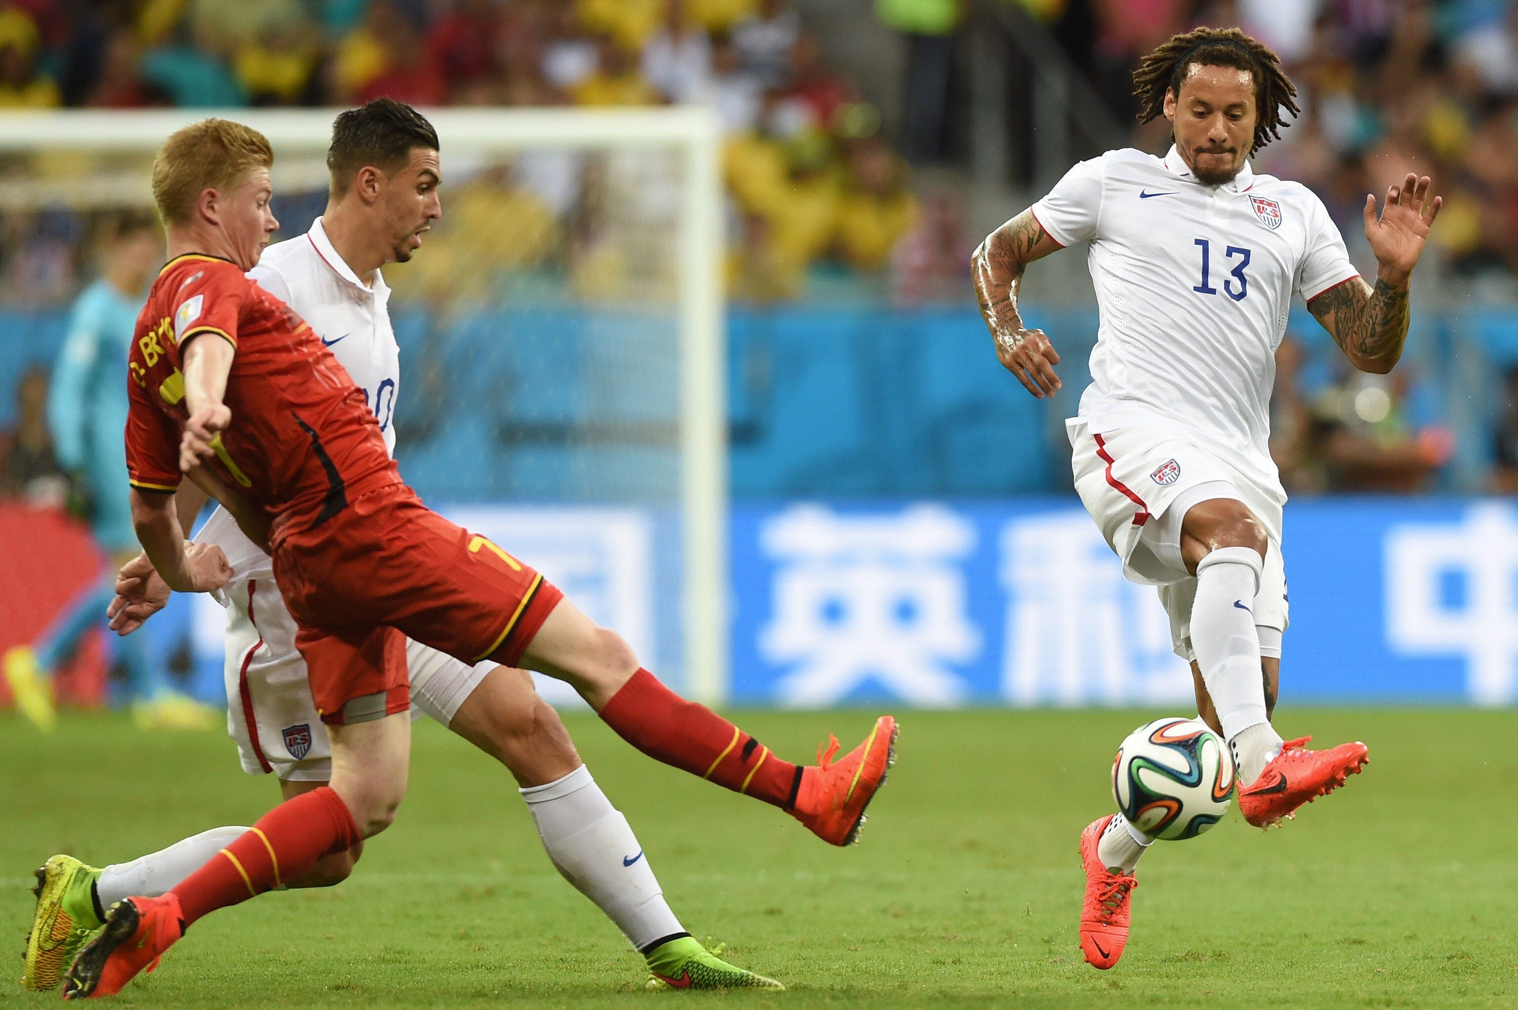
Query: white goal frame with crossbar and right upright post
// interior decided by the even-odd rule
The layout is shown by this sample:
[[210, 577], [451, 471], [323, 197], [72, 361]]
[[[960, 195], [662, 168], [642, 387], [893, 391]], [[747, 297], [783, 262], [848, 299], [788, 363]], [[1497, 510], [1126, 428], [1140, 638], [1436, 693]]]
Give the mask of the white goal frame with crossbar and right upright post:
[[[208, 115], [246, 123], [275, 147], [275, 188], [294, 176], [322, 185], [332, 120], [342, 109], [152, 109], [0, 114], [0, 156], [41, 150], [152, 153], [176, 129]], [[679, 455], [682, 628], [686, 690], [706, 704], [727, 696], [727, 364], [721, 129], [706, 108], [422, 109], [437, 129], [445, 174], [458, 155], [530, 149], [680, 152], [680, 211], [674, 253], [679, 326]], [[281, 167], [282, 156], [293, 156]], [[285, 176], [284, 179], [281, 176]], [[0, 177], [0, 205], [150, 203], [141, 168], [88, 177]], [[24, 193], [23, 193], [24, 191]]]

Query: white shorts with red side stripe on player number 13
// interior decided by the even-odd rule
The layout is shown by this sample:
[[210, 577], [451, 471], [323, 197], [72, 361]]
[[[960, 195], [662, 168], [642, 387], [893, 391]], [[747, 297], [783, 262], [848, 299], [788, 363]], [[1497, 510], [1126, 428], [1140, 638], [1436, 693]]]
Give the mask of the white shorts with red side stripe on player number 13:
[[[1096, 520], [1102, 538], [1123, 563], [1132, 582], [1155, 585], [1170, 617], [1170, 645], [1192, 661], [1192, 602], [1196, 576], [1181, 558], [1181, 522], [1192, 505], [1214, 497], [1243, 502], [1268, 531], [1264, 572], [1254, 598], [1254, 622], [1286, 631], [1290, 607], [1286, 560], [1278, 532], [1281, 507], [1275, 497], [1214, 452], [1164, 428], [1120, 428], [1096, 434], [1081, 419], [1066, 423], [1070, 435], [1075, 490]], [[1280, 658], [1280, 635], [1261, 641], [1263, 655]]]

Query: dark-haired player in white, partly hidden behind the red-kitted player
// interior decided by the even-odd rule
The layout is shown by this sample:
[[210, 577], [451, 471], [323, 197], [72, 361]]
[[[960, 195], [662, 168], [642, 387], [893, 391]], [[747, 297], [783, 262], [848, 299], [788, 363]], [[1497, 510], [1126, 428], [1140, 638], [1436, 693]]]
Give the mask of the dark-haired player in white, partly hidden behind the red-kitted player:
[[[331, 199], [325, 214], [305, 235], [266, 249], [249, 271], [311, 325], [363, 391], [392, 450], [401, 373], [380, 265], [408, 261], [439, 217], [437, 158], [433, 126], [405, 105], [380, 99], [343, 112], [328, 152]], [[178, 496], [181, 523], [188, 525], [205, 493], [185, 482]], [[296, 622], [279, 596], [270, 557], [225, 508], [194, 540], [219, 546], [235, 570], [219, 598], [228, 605], [228, 731], [243, 769], [273, 772], [287, 799], [326, 784], [332, 776], [328, 732], [311, 699], [305, 660], [294, 646]], [[140, 567], [152, 587], [126, 579], [123, 590], [138, 602], [128, 605], [121, 598], [112, 607], [123, 634], [168, 596], [150, 566], [128, 570]], [[525, 672], [489, 661], [461, 663], [419, 641], [407, 641], [407, 667], [420, 711], [512, 770], [554, 866], [644, 954], [651, 980], [679, 980], [689, 968], [695, 987], [756, 981], [712, 957], [682, 927], [650, 858], [633, 858], [642, 845], [627, 819], [580, 761], [559, 714], [537, 696]], [[100, 928], [105, 908], [129, 895], [162, 895], [246, 831], [213, 828], [105, 869], [64, 854], [52, 857], [38, 870], [23, 984], [53, 989], [77, 948]], [[361, 851], [360, 845], [329, 855], [287, 884], [340, 883]]]

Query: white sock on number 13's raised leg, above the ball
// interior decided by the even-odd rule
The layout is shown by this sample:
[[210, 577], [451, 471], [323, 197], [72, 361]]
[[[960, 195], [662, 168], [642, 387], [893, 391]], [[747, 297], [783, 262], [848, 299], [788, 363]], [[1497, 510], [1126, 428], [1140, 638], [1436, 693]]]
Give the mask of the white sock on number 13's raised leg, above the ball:
[[1264, 726], [1249, 734], [1246, 746], [1236, 749], [1243, 786], [1258, 778], [1264, 767], [1260, 755], [1281, 743], [1264, 711], [1260, 632], [1252, 613], [1263, 567], [1260, 555], [1249, 547], [1213, 550], [1196, 566], [1196, 601], [1192, 604], [1192, 651], [1224, 726], [1224, 739], [1234, 745], [1243, 731]]

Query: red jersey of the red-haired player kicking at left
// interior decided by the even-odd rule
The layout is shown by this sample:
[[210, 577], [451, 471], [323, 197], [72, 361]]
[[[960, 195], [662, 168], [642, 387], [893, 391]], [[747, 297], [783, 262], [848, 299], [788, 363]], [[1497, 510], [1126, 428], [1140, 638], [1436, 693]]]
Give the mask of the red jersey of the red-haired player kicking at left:
[[190, 417], [179, 347], [194, 334], [235, 347], [225, 396], [232, 423], [206, 466], [276, 529], [316, 526], [351, 499], [401, 484], [363, 390], [311, 328], [237, 264], [191, 253], [162, 268], [137, 318], [128, 362], [132, 487], [179, 485]]

